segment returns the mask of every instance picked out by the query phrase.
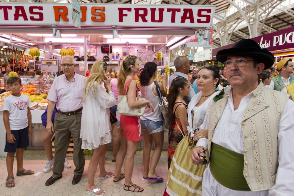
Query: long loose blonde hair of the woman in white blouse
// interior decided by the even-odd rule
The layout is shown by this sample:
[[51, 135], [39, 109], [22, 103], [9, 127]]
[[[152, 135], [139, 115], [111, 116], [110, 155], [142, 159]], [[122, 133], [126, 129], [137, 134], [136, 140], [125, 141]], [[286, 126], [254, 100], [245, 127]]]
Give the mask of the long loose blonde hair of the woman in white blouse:
[[93, 96], [95, 95], [96, 88], [98, 85], [100, 85], [101, 81], [104, 77], [104, 70], [103, 66], [105, 64], [105, 61], [96, 61], [91, 69], [90, 76], [86, 80], [84, 90], [83, 90], [83, 101], [86, 100], [86, 97], [88, 96], [89, 92], [93, 92]]

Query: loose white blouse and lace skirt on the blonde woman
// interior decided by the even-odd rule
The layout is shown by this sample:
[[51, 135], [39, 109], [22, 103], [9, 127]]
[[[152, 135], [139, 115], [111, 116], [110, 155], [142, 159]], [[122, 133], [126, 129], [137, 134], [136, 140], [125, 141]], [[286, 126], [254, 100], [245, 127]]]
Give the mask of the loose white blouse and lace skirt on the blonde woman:
[[109, 108], [116, 105], [114, 93], [106, 93], [101, 85], [95, 95], [89, 92], [83, 102], [81, 118], [82, 149], [92, 150], [111, 142], [111, 124]]

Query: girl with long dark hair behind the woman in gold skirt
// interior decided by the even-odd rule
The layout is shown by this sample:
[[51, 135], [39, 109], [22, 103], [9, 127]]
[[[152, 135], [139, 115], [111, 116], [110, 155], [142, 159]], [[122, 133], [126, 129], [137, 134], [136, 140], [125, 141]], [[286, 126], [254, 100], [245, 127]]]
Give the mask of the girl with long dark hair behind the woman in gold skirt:
[[173, 154], [178, 143], [188, 133], [187, 108], [184, 97], [188, 96], [190, 83], [186, 78], [175, 78], [171, 82], [169, 94], [166, 96], [168, 101], [167, 120], [170, 128], [168, 130], [168, 169], [171, 165]]

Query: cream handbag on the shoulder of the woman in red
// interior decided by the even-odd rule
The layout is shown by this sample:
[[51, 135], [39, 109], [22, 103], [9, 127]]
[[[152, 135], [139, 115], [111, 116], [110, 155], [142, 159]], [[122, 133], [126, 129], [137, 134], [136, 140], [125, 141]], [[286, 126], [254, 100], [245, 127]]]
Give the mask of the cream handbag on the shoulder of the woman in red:
[[[118, 113], [126, 116], [143, 116], [145, 112], [145, 105], [139, 108], [130, 108], [128, 106], [128, 88], [130, 86], [131, 80], [128, 82], [126, 88], [126, 95], [118, 95], [117, 96], [117, 110]], [[141, 98], [138, 96], [138, 86], [136, 86], [137, 100], [146, 100], [145, 98]]]

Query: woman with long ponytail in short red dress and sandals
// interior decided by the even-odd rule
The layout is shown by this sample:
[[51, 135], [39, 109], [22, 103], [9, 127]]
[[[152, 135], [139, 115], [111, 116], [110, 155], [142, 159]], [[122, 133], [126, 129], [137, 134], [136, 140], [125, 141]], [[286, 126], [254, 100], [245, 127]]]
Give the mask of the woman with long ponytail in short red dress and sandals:
[[[130, 108], [138, 108], [147, 105], [148, 108], [154, 110], [152, 103], [149, 100], [136, 100], [137, 82], [134, 80], [136, 73], [139, 73], [140, 65], [139, 59], [136, 56], [127, 56], [123, 61], [123, 65], [120, 67], [118, 73], [118, 92], [119, 95], [128, 96], [128, 106]], [[126, 87], [128, 86], [126, 92]], [[138, 90], [139, 96], [141, 92]], [[116, 156], [116, 172], [113, 182], [118, 182], [122, 178], [125, 178], [124, 190], [132, 192], [142, 192], [144, 189], [132, 183], [132, 174], [134, 168], [134, 157], [141, 140], [141, 125], [140, 118], [136, 116], [121, 115], [121, 148]], [[121, 173], [121, 167], [123, 160], [126, 157], [124, 164], [124, 171], [126, 174]]]

